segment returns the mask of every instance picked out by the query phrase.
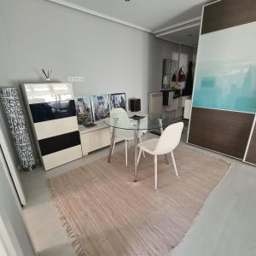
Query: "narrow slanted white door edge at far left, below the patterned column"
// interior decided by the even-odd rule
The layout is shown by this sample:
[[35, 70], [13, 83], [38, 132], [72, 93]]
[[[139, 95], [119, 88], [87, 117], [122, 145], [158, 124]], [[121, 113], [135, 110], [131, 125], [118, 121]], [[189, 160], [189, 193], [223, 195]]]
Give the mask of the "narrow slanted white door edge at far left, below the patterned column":
[[20, 198], [20, 203], [22, 206], [26, 206], [26, 198], [22, 189], [22, 185], [20, 182], [20, 174], [18, 170], [16, 170], [15, 163], [12, 160], [11, 154], [9, 154], [9, 148], [7, 147], [6, 141], [3, 137], [3, 131], [0, 127], [0, 145], [3, 150], [4, 158], [7, 162], [7, 165], [9, 167], [9, 172], [12, 177], [13, 182], [15, 183], [15, 189], [17, 191], [17, 194]]

